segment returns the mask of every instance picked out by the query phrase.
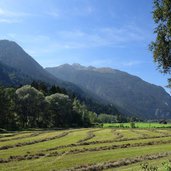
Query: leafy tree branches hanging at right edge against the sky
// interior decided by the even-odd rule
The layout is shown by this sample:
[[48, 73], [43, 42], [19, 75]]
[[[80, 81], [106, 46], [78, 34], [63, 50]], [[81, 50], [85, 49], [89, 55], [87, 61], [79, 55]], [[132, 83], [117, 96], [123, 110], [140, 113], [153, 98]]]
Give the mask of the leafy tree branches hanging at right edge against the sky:
[[[154, 61], [163, 73], [171, 73], [171, 0], [154, 0], [156, 39], [151, 43]], [[171, 81], [171, 80], [170, 80]]]

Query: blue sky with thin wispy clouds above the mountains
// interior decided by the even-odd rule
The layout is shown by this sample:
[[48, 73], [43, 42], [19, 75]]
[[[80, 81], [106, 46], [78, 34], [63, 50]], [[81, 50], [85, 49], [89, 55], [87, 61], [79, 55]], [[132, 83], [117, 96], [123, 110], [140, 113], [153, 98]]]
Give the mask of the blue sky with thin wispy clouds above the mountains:
[[111, 67], [165, 88], [169, 76], [148, 48], [152, 10], [153, 0], [0, 0], [0, 39], [16, 41], [43, 67]]

